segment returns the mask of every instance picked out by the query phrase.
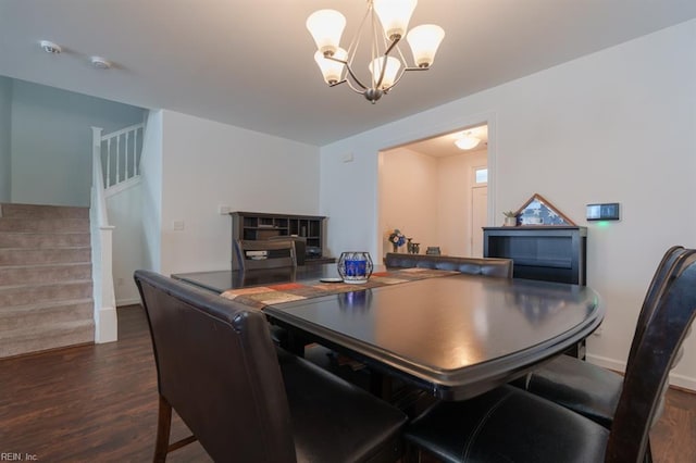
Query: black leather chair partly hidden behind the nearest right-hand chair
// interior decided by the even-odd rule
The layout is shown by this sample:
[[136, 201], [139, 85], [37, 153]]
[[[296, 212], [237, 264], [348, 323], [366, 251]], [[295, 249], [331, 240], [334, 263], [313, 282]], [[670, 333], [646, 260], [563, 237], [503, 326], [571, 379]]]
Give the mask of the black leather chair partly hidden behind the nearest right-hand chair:
[[[626, 364], [632, 363], [667, 277], [672, 272], [676, 258], [684, 252], [691, 251], [682, 246], [674, 246], [662, 256], [638, 314]], [[623, 376], [576, 358], [560, 355], [512, 384], [609, 428], [621, 396]]]

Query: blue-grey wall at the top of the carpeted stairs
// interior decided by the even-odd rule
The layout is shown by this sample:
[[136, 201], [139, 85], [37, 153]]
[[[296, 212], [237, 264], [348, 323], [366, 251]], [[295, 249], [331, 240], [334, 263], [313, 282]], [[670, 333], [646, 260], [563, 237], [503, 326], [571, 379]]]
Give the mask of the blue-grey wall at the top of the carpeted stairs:
[[144, 110], [13, 80], [12, 202], [89, 205], [91, 129], [142, 121]]

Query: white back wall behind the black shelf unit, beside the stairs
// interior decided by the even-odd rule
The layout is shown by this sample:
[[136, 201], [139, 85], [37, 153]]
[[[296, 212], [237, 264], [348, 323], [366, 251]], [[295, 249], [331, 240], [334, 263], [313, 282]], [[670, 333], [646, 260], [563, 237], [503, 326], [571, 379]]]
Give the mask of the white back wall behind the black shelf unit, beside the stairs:
[[220, 205], [318, 214], [319, 164], [316, 147], [163, 111], [161, 273], [231, 267], [232, 218]]

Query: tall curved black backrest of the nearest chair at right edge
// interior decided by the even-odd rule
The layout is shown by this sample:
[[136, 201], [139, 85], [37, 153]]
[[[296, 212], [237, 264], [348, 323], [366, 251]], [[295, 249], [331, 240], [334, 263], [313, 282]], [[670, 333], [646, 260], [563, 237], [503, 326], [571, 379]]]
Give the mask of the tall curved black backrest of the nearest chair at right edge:
[[606, 462], [641, 462], [645, 458], [650, 426], [668, 386], [669, 372], [679, 360], [696, 316], [696, 251], [685, 250], [676, 256], [656, 300], [626, 367]]

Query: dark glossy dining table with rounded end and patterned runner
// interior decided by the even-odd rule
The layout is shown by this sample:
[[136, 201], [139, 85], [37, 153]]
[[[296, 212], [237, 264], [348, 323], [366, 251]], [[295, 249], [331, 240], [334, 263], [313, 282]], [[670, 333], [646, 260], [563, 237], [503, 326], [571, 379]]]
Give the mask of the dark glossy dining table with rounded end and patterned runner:
[[[377, 274], [384, 271], [375, 266]], [[337, 274], [327, 264], [291, 273], [172, 276], [223, 293], [290, 281], [316, 285]], [[442, 400], [465, 400], [525, 375], [589, 336], [605, 314], [599, 295], [587, 286], [457, 272], [431, 276], [344, 284], [335, 293], [266, 301], [262, 310], [295, 343], [323, 345]]]

